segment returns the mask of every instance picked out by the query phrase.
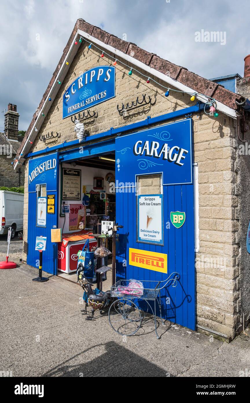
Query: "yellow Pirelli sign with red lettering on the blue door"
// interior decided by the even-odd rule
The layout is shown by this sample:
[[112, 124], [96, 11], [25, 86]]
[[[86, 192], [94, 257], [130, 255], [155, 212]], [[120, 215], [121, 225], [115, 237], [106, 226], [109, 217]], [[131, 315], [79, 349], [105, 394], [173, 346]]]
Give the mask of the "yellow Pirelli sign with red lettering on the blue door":
[[168, 272], [166, 253], [150, 252], [141, 249], [129, 248], [129, 264], [156, 272]]

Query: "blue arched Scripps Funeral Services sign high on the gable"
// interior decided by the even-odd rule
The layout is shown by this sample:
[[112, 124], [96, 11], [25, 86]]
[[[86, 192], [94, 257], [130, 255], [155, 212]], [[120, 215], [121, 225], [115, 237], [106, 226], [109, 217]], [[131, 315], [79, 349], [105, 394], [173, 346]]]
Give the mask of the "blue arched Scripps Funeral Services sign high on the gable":
[[115, 97], [115, 67], [98, 66], [77, 77], [63, 96], [63, 119]]

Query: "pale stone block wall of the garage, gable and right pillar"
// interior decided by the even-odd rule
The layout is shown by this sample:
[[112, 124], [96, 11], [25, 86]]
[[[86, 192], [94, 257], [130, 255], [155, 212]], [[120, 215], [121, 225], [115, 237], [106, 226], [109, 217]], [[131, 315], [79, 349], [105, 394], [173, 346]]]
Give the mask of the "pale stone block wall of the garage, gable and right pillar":
[[[31, 151], [45, 148], [46, 144], [39, 140], [39, 135], [50, 131], [61, 133], [61, 138], [57, 140], [58, 143], [76, 139], [71, 119], [62, 119], [63, 93], [81, 72], [92, 66], [111, 64], [111, 62], [112, 60], [107, 56], [100, 58], [100, 54], [95, 50], [88, 50], [84, 44], [80, 47], [45, 117]], [[138, 68], [136, 69], [138, 70]], [[91, 135], [106, 131], [110, 127], [135, 123], [148, 115], [159, 116], [194, 104], [190, 101], [189, 95], [178, 92], [170, 91], [170, 96], [166, 98], [165, 91], [160, 85], [153, 83], [152, 80], [147, 84], [146, 78], [137, 75], [135, 71], [131, 77], [127, 73], [128, 70], [117, 63], [116, 97], [92, 108], [98, 112], [98, 118], [94, 120], [94, 123], [85, 123], [86, 129]], [[121, 107], [122, 102], [131, 102], [137, 96], [140, 99], [143, 93], [152, 96], [153, 100], [156, 96], [156, 104], [151, 107], [140, 107], [126, 116], [119, 116], [117, 104]], [[194, 122], [194, 156], [199, 171], [200, 249], [197, 253], [199, 264], [196, 264], [197, 323], [230, 338], [235, 335], [240, 310], [239, 245], [236, 240], [239, 218], [237, 214], [238, 195], [235, 186], [238, 183], [235, 169], [235, 123], [221, 113], [218, 118], [206, 115], [204, 112], [193, 115], [192, 118]], [[180, 119], [182, 118], [176, 118], [169, 123]], [[26, 182], [25, 191], [27, 191]], [[25, 197], [25, 241], [27, 241], [27, 214], [28, 199]]]

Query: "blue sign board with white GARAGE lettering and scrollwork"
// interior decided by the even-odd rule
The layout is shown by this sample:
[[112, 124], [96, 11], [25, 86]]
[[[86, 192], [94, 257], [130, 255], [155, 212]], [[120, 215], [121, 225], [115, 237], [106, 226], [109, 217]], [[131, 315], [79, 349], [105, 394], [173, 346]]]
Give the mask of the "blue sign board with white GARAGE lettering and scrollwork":
[[117, 137], [115, 178], [120, 183], [162, 173], [162, 185], [193, 183], [191, 123], [185, 119]]

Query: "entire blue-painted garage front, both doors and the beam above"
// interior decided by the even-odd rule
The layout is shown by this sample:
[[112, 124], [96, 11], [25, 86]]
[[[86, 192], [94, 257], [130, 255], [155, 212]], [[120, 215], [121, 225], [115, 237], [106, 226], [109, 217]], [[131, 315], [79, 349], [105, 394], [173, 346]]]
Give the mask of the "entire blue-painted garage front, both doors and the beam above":
[[[115, 152], [116, 221], [123, 225], [117, 241], [117, 278], [164, 280], [172, 272], [180, 274], [175, 288], [162, 294], [165, 318], [195, 329], [195, 228], [192, 169], [192, 120], [148, 128], [136, 133], [90, 145], [82, 143], [71, 150], [46, 154], [29, 160], [29, 214], [27, 263], [37, 266], [36, 236], [46, 236], [43, 270], [57, 274], [57, 244], [51, 243], [50, 231], [58, 226], [58, 172], [60, 164]], [[93, 136], [94, 137], [94, 136]], [[49, 152], [49, 149], [46, 150]], [[56, 162], [55, 162], [55, 161]], [[55, 165], [55, 166], [54, 166]], [[137, 239], [138, 214], [136, 184], [141, 175], [158, 174], [162, 183], [162, 239], [145, 242]], [[129, 183], [129, 185], [128, 185]], [[46, 228], [36, 226], [38, 184], [46, 184], [47, 195], [55, 194], [55, 214], [47, 214]], [[150, 191], [150, 194], [152, 192]], [[184, 213], [177, 228], [170, 213]], [[180, 213], [178, 213], [180, 212]], [[183, 214], [182, 214], [183, 216]], [[163, 240], [163, 241], [162, 241]], [[129, 248], [167, 255], [167, 272], [136, 267], [129, 261]]]

